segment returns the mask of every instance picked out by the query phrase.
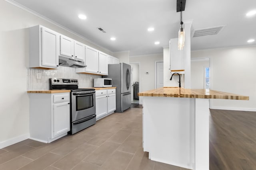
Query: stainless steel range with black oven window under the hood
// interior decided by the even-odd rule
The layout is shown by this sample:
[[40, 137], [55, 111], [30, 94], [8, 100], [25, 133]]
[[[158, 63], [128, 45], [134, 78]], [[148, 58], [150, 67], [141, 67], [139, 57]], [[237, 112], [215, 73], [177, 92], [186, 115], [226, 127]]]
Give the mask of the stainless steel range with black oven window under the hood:
[[96, 123], [95, 89], [78, 89], [77, 79], [50, 78], [50, 90], [71, 90], [70, 134]]

